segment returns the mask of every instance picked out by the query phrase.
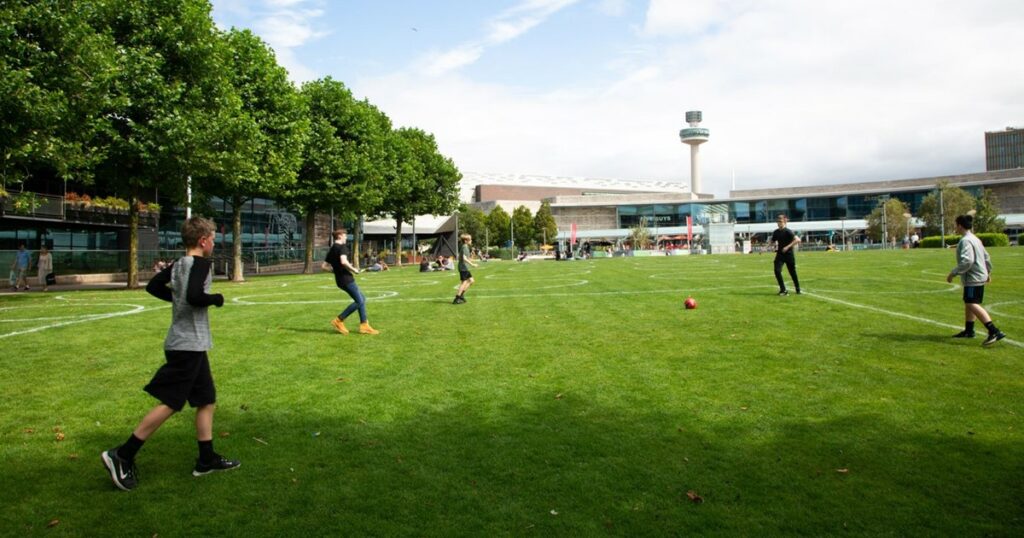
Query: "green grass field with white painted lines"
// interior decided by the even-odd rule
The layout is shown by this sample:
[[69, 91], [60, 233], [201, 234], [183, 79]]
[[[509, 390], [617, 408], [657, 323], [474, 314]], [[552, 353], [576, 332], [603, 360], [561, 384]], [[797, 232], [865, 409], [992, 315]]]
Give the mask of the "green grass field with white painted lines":
[[359, 277], [376, 337], [332, 330], [330, 275], [217, 282], [243, 465], [193, 478], [186, 411], [130, 493], [99, 453], [155, 404], [166, 303], [0, 296], [0, 531], [1021, 536], [1024, 250], [990, 252], [991, 348], [950, 338], [950, 251], [802, 252], [788, 297], [770, 255], [490, 262], [462, 305], [410, 267]]

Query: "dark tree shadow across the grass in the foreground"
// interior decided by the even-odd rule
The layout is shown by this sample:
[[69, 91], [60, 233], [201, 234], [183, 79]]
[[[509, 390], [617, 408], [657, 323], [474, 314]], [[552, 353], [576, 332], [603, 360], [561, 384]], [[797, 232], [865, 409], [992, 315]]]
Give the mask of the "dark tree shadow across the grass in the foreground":
[[387, 395], [362, 409], [250, 396], [248, 411], [217, 417], [230, 430], [217, 449], [242, 468], [191, 478], [186, 413], [143, 448], [131, 493], [98, 461], [121, 439], [87, 436], [80, 460], [8, 464], [0, 522], [161, 536], [1024, 532], [1024, 447], [985, 432], [756, 410], [681, 420], [708, 415], [698, 403], [624, 413], [547, 392], [482, 409], [424, 397], [402, 418], [409, 403]]

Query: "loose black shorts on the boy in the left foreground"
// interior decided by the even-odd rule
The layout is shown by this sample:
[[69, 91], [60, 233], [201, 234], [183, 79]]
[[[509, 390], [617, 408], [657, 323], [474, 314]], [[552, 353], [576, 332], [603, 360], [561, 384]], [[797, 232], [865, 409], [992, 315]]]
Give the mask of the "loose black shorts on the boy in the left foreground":
[[186, 401], [191, 407], [217, 402], [206, 351], [164, 349], [164, 357], [167, 363], [157, 370], [143, 390], [175, 411], [181, 411]]

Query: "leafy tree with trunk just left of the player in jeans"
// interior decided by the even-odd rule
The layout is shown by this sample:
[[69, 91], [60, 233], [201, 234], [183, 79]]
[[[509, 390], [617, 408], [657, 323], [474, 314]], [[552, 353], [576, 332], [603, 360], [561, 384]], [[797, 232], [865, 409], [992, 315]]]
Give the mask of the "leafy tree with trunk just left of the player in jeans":
[[[287, 199], [305, 215], [304, 272], [311, 273], [317, 211], [334, 209], [351, 221], [381, 206], [391, 122], [330, 77], [303, 84], [302, 95], [309, 110], [309, 139]], [[357, 260], [358, 252], [353, 254]]]

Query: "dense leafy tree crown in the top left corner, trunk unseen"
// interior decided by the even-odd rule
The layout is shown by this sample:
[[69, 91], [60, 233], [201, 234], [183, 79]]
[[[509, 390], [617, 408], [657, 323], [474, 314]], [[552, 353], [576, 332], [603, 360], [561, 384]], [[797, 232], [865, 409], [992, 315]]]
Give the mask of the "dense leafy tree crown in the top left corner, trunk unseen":
[[115, 47], [95, 28], [95, 2], [0, 3], [0, 176], [45, 168], [87, 183], [102, 149]]

